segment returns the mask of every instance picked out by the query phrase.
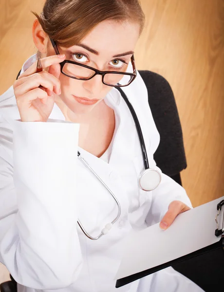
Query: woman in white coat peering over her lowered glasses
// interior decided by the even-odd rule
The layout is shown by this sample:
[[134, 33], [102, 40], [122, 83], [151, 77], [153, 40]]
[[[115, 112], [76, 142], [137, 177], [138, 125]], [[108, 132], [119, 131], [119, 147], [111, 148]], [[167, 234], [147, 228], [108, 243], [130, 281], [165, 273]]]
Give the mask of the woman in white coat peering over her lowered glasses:
[[[19, 292], [116, 291], [120, 241], [154, 222], [166, 229], [192, 207], [185, 190], [156, 167], [159, 134], [145, 84], [138, 73], [133, 80], [132, 55], [144, 14], [138, 0], [47, 0], [36, 16], [38, 53], [0, 97], [0, 261]], [[37, 73], [38, 56], [44, 70]], [[60, 72], [64, 60], [75, 63], [64, 62]], [[102, 79], [93, 76], [94, 69], [113, 74]], [[130, 73], [130, 84], [121, 72]], [[115, 85], [125, 85], [149, 165], [161, 174], [152, 191], [138, 185], [144, 169], [141, 147]], [[107, 223], [116, 218], [117, 203], [77, 151], [120, 203], [111, 230]], [[91, 240], [78, 219], [90, 237], [102, 230], [104, 235]], [[202, 290], [169, 268], [119, 291]]]

